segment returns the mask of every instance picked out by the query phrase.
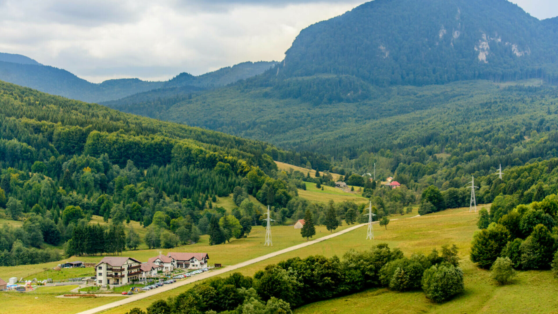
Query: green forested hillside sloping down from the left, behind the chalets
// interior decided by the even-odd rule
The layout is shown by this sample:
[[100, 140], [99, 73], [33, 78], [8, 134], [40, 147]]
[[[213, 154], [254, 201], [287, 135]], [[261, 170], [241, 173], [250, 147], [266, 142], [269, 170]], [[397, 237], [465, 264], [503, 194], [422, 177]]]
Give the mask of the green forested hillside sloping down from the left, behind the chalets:
[[[0, 265], [58, 260], [56, 251], [35, 248], [66, 241], [72, 255], [140, 241], [172, 248], [205, 233], [213, 244], [240, 237], [238, 219], [214, 208], [215, 197], [234, 191], [242, 202], [249, 193], [279, 211], [297, 196], [294, 183], [277, 178], [270, 154], [291, 163], [318, 158], [0, 82], [0, 219], [24, 221], [0, 227]], [[252, 208], [244, 227], [259, 223], [260, 209], [244, 207]], [[112, 223], [90, 226], [92, 215]], [[125, 246], [122, 222], [131, 220], [148, 227], [147, 236]]]

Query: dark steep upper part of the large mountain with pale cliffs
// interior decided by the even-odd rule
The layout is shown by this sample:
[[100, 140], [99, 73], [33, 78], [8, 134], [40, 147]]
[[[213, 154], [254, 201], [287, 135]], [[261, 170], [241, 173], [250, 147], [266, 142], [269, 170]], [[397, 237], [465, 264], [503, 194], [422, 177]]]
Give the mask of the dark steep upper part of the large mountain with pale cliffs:
[[556, 21], [506, 0], [376, 0], [300, 32], [270, 75], [376, 85], [558, 76]]

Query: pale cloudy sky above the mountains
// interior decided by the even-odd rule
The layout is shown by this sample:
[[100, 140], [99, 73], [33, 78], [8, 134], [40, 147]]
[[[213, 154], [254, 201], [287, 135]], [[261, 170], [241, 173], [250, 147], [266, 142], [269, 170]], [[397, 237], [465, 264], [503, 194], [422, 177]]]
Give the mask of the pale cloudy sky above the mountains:
[[[0, 52], [91, 82], [282, 60], [302, 28], [365, 0], [0, 0]], [[513, 0], [537, 18], [556, 0]]]

